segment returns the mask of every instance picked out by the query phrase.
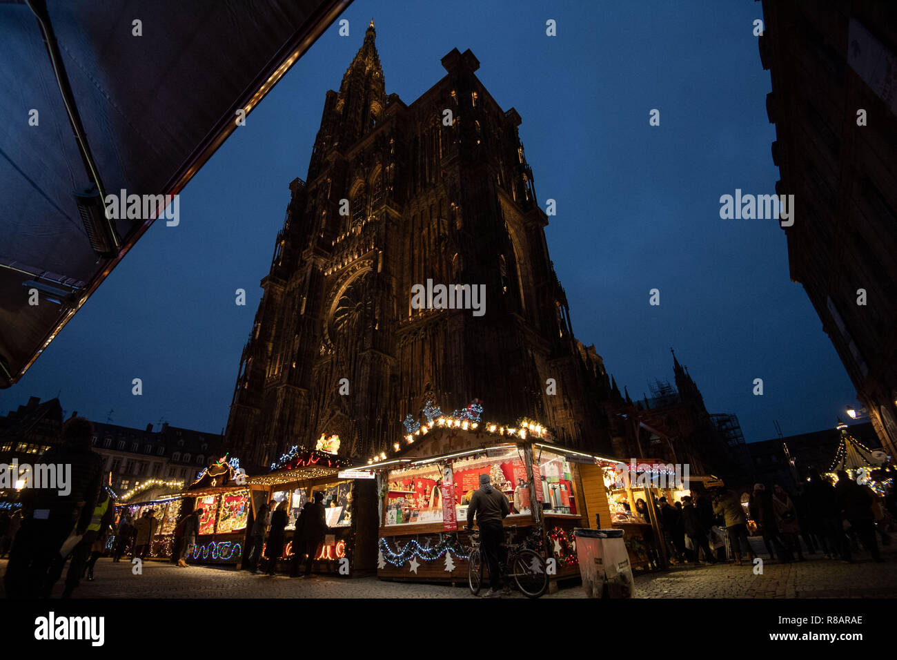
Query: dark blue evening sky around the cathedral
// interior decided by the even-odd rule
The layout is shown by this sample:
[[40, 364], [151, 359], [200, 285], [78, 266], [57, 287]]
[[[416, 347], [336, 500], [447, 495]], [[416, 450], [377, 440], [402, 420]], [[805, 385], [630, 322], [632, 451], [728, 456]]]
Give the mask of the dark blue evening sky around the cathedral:
[[414, 101], [445, 74], [441, 57], [470, 48], [495, 100], [520, 113], [536, 194], [543, 207], [557, 200], [546, 234], [573, 330], [621, 389], [635, 398], [649, 379], [672, 381], [672, 346], [710, 412], [736, 413], [749, 442], [775, 436], [774, 419], [785, 435], [833, 427], [856, 393], [789, 280], [785, 234], [771, 220], [719, 218], [721, 195], [772, 193], [779, 178], [752, 33], [760, 4], [555, 4], [355, 2], [350, 36], [332, 26], [292, 67], [187, 185], [180, 225], [152, 226], [0, 392], [0, 411], [60, 392], [69, 414], [100, 421], [114, 409], [126, 426], [225, 426], [288, 184], [305, 178], [325, 93], [373, 16], [387, 92]]

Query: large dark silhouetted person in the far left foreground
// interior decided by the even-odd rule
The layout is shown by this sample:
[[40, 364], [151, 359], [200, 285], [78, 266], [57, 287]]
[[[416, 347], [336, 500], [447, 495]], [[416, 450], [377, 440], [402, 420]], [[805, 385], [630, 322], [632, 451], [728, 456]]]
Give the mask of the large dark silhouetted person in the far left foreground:
[[[48, 569], [69, 533], [83, 534], [100, 497], [103, 459], [91, 451], [93, 425], [84, 418], [66, 422], [63, 443], [40, 457], [40, 465], [55, 465], [69, 475], [65, 488], [24, 488], [25, 518], [16, 534], [6, 567], [7, 598], [42, 594]], [[67, 472], [71, 466], [71, 472]], [[37, 467], [37, 466], [36, 466]], [[62, 484], [58, 484], [62, 485]]]

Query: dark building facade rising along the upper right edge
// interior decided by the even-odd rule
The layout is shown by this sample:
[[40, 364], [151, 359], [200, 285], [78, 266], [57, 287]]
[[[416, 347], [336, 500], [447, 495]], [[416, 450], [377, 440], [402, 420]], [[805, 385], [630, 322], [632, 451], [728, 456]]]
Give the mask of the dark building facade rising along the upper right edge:
[[[897, 4], [763, 2], [791, 279], [897, 454]], [[847, 402], [846, 402], [847, 403]]]

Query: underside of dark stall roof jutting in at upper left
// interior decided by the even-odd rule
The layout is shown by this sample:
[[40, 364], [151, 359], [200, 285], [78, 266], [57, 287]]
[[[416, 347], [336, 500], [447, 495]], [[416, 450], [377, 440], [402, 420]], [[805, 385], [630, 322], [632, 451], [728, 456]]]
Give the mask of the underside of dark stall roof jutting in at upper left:
[[351, 1], [0, 1], [0, 387], [159, 210], [107, 220], [75, 193], [179, 193]]

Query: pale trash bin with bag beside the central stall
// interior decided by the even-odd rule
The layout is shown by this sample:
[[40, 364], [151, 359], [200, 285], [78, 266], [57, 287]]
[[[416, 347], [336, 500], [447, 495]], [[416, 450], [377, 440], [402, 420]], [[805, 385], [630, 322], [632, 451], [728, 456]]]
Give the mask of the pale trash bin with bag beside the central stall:
[[573, 535], [576, 537], [582, 588], [588, 598], [631, 598], [635, 595], [623, 530], [577, 527]]

